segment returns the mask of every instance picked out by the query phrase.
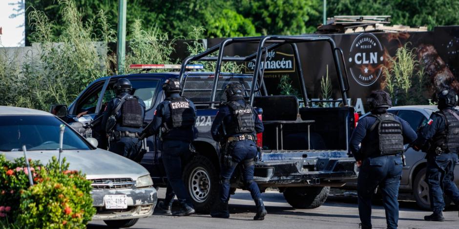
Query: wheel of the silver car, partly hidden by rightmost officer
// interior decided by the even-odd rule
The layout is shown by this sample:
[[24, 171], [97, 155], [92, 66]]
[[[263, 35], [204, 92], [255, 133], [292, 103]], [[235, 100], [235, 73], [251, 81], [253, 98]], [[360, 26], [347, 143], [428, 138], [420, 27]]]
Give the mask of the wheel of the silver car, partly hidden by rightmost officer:
[[[422, 210], [431, 210], [430, 209], [430, 197], [429, 197], [429, 186], [425, 181], [425, 174], [427, 169], [424, 168], [417, 172], [415, 183], [413, 184], [413, 195], [416, 199], [417, 206]], [[445, 208], [448, 208], [451, 205], [451, 199], [447, 196], [443, 197], [445, 201]]]

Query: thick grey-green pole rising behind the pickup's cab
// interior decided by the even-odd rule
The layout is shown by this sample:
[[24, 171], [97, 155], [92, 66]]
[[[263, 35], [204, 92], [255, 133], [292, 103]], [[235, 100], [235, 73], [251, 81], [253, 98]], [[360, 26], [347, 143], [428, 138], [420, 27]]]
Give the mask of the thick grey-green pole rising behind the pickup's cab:
[[118, 75], [122, 75], [125, 72], [126, 55], [126, 0], [118, 0], [117, 37], [116, 64], [118, 65]]

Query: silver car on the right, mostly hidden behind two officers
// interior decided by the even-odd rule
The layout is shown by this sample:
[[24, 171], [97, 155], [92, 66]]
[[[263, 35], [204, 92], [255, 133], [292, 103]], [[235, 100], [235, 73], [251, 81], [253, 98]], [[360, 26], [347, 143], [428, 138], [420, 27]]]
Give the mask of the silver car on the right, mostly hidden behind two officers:
[[[459, 109], [459, 107], [456, 107]], [[416, 105], [416, 106], [399, 106], [392, 107], [388, 111], [399, 116], [407, 121], [413, 130], [417, 131], [427, 123], [430, 115], [438, 110], [437, 106], [431, 105]], [[369, 113], [362, 115], [362, 117]], [[408, 145], [405, 145], [408, 147]], [[400, 192], [411, 192], [416, 199], [417, 205], [423, 210], [430, 210], [429, 187], [425, 182], [426, 153], [417, 152], [412, 148], [405, 153], [406, 166], [403, 167], [402, 178], [400, 180]], [[454, 171], [455, 183], [459, 185], [459, 162], [456, 163]], [[355, 189], [357, 187], [356, 180], [349, 181], [344, 188]], [[450, 200], [446, 200], [451, 203]], [[447, 203], [448, 204], [448, 203]]]

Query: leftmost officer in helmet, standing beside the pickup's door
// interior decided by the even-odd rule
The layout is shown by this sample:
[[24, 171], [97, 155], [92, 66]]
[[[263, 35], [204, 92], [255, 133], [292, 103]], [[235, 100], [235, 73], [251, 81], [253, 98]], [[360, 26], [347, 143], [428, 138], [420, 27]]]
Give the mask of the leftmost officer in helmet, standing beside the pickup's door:
[[126, 78], [120, 78], [115, 84], [116, 97], [110, 100], [104, 112], [102, 127], [109, 135], [108, 150], [135, 160], [142, 142], [145, 116], [145, 104], [142, 99], [131, 95], [132, 85]]

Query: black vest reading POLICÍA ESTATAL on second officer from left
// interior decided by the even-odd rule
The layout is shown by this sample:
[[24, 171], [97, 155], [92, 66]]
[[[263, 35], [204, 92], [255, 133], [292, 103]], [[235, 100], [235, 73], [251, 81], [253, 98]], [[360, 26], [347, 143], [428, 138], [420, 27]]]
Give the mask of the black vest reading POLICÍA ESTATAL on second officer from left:
[[184, 97], [173, 98], [170, 103], [172, 126], [168, 128], [190, 127], [194, 125], [194, 110]]

